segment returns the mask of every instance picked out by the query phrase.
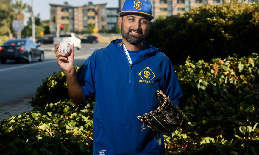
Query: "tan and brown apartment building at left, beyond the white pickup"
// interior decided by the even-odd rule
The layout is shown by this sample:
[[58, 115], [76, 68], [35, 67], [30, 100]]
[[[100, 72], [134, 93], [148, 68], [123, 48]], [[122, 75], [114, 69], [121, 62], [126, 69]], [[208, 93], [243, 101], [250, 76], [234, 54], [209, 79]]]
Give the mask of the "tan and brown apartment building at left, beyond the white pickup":
[[74, 7], [64, 2], [60, 4], [49, 4], [50, 8], [50, 33], [56, 35], [60, 31], [60, 25], [65, 30], [82, 32], [87, 30], [89, 24], [93, 24], [98, 30], [107, 29], [107, 8], [104, 4], [93, 4], [89, 2], [83, 6]]

